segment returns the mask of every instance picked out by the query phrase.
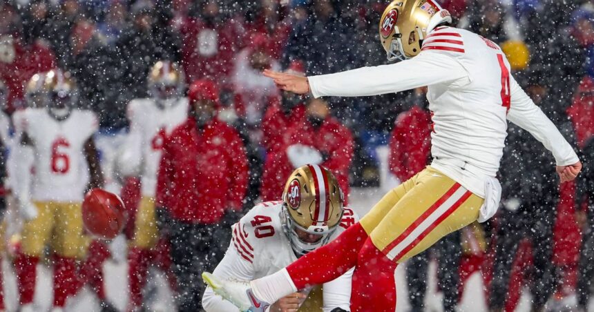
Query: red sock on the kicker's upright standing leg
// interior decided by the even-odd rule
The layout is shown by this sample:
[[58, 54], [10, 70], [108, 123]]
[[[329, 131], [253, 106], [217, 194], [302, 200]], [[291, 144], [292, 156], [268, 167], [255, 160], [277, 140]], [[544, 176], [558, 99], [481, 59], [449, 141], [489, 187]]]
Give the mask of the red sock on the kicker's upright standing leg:
[[353, 273], [352, 311], [393, 312], [396, 309], [396, 266], [370, 238], [365, 241]]

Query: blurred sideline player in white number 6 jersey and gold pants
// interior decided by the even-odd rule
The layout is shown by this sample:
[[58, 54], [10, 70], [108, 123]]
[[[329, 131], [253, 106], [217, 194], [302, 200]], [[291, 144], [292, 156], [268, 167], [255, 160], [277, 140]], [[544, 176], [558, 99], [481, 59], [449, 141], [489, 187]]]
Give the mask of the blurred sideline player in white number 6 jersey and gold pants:
[[61, 311], [76, 291], [75, 258], [86, 248], [81, 202], [86, 185], [81, 183], [86, 161], [90, 187], [100, 187], [103, 175], [93, 142], [98, 122], [89, 110], [73, 109], [77, 88], [68, 72], [50, 70], [44, 78], [48, 99], [45, 108], [16, 113], [21, 153], [35, 159], [18, 162], [19, 211], [23, 216], [22, 252], [15, 259], [20, 295], [19, 311], [35, 311], [37, 263], [49, 244], [54, 253], [54, 311]]

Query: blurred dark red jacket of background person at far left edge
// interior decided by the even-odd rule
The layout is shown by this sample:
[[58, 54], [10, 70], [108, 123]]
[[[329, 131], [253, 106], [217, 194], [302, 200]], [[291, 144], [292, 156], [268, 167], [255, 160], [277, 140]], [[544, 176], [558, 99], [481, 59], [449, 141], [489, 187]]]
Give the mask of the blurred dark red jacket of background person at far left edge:
[[12, 40], [15, 57], [10, 62], [0, 59], [0, 79], [9, 90], [8, 106], [14, 108], [15, 101], [23, 99], [23, 86], [37, 74], [56, 66], [54, 53], [46, 41], [36, 40], [30, 46], [23, 46], [18, 39]]

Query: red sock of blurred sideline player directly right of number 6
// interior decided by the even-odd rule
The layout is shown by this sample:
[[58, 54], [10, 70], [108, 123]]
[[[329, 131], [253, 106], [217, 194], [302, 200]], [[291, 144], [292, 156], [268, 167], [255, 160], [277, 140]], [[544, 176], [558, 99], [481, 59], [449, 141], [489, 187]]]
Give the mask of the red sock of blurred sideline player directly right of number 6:
[[133, 247], [128, 254], [128, 288], [130, 291], [130, 303], [133, 306], [142, 304], [142, 289], [146, 284], [148, 274], [148, 261], [151, 252]]

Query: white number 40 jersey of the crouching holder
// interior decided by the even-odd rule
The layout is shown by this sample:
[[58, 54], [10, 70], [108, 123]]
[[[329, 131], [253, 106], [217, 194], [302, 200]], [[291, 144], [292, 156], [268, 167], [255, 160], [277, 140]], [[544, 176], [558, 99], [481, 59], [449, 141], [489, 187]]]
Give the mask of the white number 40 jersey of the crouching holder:
[[[280, 271], [297, 260], [289, 238], [280, 221], [282, 202], [263, 202], [253, 207], [233, 224], [233, 238], [214, 275], [222, 279], [255, 280]], [[358, 222], [352, 209], [344, 208], [343, 220], [330, 237], [334, 240], [346, 228]], [[353, 270], [323, 284], [323, 311], [341, 308], [350, 311], [351, 277]], [[309, 293], [311, 289], [305, 290]], [[215, 295], [209, 287], [202, 297], [207, 312], [236, 311], [237, 308]], [[319, 311], [318, 309], [318, 311]]]

